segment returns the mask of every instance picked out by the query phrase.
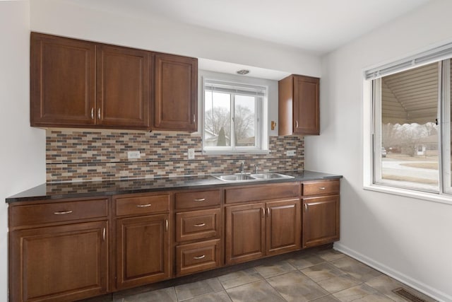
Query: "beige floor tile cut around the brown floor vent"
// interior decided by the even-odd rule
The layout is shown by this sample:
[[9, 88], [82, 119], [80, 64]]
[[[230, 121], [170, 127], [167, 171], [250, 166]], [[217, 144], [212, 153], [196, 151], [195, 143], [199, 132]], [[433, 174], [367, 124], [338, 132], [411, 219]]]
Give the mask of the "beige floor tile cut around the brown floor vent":
[[376, 289], [377, 291], [381, 292], [382, 294], [388, 296], [389, 298], [393, 299], [396, 302], [406, 302], [404, 298], [398, 296], [398, 294], [395, 294], [393, 292], [393, 289], [398, 289], [400, 287], [403, 287], [403, 289], [405, 289], [406, 291], [409, 291], [411, 294], [418, 296], [427, 302], [436, 301], [433, 298], [430, 298], [429, 296], [426, 296], [420, 293], [419, 291], [416, 291], [415, 289], [412, 289], [409, 286], [400, 283], [396, 279], [393, 279], [383, 274], [379, 277], [367, 281], [366, 284], [371, 286], [373, 289]]

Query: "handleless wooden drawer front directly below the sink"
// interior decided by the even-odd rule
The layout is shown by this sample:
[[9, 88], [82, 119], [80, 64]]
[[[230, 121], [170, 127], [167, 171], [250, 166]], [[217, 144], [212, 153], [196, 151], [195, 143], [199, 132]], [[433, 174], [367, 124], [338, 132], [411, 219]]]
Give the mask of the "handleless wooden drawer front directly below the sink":
[[253, 202], [299, 196], [299, 183], [287, 182], [275, 185], [246, 186], [227, 189], [225, 203]]

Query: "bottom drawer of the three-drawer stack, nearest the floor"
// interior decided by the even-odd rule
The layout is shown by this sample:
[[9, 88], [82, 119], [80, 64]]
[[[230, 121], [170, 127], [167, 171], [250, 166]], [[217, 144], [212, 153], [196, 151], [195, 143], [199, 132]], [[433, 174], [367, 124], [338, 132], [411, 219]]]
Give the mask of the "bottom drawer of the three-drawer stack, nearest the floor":
[[220, 239], [177, 246], [176, 265], [177, 276], [220, 267]]

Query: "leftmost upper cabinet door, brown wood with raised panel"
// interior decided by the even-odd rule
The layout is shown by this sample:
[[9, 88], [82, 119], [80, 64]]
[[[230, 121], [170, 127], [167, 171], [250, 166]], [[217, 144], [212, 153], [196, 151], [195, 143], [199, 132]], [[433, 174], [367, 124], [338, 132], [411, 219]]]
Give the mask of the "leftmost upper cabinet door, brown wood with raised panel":
[[30, 47], [31, 125], [94, 124], [94, 43], [32, 33]]

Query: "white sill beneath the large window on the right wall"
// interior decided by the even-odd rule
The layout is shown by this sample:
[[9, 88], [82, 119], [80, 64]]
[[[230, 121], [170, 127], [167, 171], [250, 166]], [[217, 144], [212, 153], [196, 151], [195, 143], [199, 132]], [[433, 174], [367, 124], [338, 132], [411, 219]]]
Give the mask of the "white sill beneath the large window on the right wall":
[[398, 187], [388, 187], [385, 185], [364, 185], [364, 190], [393, 194], [403, 197], [427, 200], [429, 202], [439, 202], [441, 204], [452, 205], [452, 196], [447, 194], [420, 192], [415, 190], [402, 189]]

